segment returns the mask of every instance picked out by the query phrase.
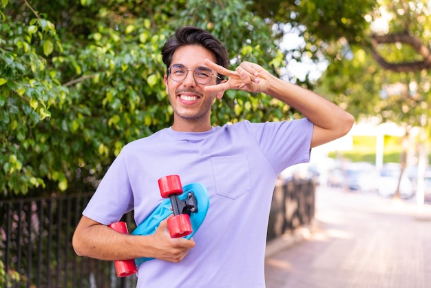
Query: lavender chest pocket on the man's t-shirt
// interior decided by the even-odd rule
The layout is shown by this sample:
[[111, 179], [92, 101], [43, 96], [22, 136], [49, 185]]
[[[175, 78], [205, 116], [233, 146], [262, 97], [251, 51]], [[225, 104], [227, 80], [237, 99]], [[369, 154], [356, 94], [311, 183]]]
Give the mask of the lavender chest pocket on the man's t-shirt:
[[211, 158], [216, 193], [236, 199], [250, 192], [250, 165], [246, 154]]

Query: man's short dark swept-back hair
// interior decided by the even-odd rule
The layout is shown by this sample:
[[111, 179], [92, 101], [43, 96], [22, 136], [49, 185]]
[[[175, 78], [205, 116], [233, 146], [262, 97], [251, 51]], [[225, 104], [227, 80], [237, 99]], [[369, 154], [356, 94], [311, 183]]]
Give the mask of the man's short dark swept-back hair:
[[[174, 52], [185, 45], [200, 45], [213, 52], [215, 63], [224, 68], [229, 67], [229, 54], [227, 53], [227, 49], [213, 34], [197, 27], [183, 26], [178, 28], [175, 34], [169, 37], [162, 48], [162, 59], [166, 68], [169, 69], [171, 66]], [[222, 77], [223, 75], [219, 74], [219, 76]]]

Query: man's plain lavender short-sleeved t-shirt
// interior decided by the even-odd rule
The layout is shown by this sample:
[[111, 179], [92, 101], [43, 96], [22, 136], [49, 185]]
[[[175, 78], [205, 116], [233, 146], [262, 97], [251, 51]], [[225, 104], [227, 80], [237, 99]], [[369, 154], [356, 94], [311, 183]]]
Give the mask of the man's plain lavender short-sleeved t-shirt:
[[83, 215], [108, 225], [134, 209], [140, 223], [162, 202], [158, 178], [178, 174], [204, 184], [210, 207], [180, 263], [151, 260], [138, 268], [138, 287], [265, 287], [264, 251], [277, 175], [309, 161], [313, 124], [307, 119], [213, 127], [171, 128], [123, 147]]

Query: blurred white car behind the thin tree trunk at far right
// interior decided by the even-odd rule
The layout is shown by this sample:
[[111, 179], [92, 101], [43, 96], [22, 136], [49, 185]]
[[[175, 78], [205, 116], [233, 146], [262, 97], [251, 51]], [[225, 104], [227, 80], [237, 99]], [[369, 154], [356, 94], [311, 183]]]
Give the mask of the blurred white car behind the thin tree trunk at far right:
[[387, 163], [380, 171], [379, 186], [377, 192], [384, 197], [393, 197], [397, 192], [399, 183], [399, 196], [410, 198], [414, 195], [414, 186], [410, 178], [403, 173], [401, 176], [401, 165], [399, 163]]

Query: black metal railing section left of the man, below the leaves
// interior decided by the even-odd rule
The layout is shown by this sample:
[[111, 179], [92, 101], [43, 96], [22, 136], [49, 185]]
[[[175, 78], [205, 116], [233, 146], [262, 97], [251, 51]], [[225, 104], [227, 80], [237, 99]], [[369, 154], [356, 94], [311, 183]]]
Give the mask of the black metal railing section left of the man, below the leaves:
[[[111, 261], [78, 257], [72, 234], [90, 194], [0, 201], [1, 287], [129, 287]], [[125, 216], [133, 221], [131, 217]], [[132, 282], [132, 283], [130, 283]], [[130, 285], [129, 285], [130, 284]]]

